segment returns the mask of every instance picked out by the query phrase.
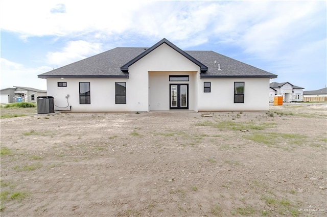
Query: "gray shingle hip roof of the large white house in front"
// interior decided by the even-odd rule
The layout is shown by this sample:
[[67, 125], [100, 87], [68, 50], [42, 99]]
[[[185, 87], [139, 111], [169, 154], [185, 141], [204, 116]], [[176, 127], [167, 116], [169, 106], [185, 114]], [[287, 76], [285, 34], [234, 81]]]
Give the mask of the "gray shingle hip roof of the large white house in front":
[[[161, 40], [158, 43], [170, 43], [166, 39]], [[154, 46], [150, 47], [155, 48]], [[174, 48], [175, 45], [171, 44]], [[175, 46], [176, 47], [176, 46]], [[55, 78], [55, 77], [128, 77], [128, 72], [126, 67], [132, 64], [135, 60], [139, 60], [139, 57], [148, 53], [148, 48], [144, 47], [117, 47], [98, 55], [86, 58], [84, 60], [54, 69], [43, 74], [39, 74], [39, 78]], [[175, 49], [175, 48], [174, 48]], [[259, 68], [255, 68], [248, 64], [242, 63], [240, 61], [228, 58], [226, 56], [220, 55], [214, 51], [182, 51], [178, 50], [182, 55], [184, 55], [189, 60], [193, 61], [195, 64], [199, 65], [202, 69], [207, 69], [205, 72], [201, 72], [201, 77], [269, 77], [276, 78], [277, 75], [269, 73]], [[176, 50], [176, 49], [175, 49]], [[151, 50], [150, 50], [151, 52]], [[145, 55], [146, 55], [145, 54]], [[190, 56], [190, 57], [189, 57]], [[216, 64], [215, 64], [216, 61]], [[218, 64], [220, 69], [218, 69]], [[123, 67], [124, 66], [124, 67]], [[121, 68], [123, 67], [123, 68]], [[122, 69], [125, 69], [122, 71]]]

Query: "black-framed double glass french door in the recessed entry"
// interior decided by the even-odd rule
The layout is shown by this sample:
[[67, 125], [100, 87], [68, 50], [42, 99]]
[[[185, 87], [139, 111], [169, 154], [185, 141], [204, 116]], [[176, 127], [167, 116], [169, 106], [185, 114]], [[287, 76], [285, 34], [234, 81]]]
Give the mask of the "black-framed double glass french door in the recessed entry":
[[189, 85], [170, 84], [170, 109], [189, 108]]

